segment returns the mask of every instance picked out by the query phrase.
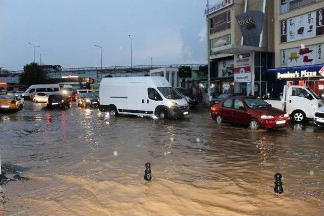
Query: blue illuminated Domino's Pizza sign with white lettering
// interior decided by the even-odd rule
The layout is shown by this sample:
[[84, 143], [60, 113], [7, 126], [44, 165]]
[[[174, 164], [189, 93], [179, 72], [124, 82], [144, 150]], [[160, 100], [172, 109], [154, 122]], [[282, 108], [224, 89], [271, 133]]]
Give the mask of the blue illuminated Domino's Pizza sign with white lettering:
[[277, 79], [324, 77], [324, 64], [268, 69]]

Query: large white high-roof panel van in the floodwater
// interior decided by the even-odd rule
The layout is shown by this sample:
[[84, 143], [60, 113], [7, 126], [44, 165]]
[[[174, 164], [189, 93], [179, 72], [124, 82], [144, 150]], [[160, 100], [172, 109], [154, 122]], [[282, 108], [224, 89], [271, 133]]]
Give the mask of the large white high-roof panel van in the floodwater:
[[110, 115], [156, 116], [160, 119], [189, 114], [185, 99], [160, 76], [107, 77], [99, 88], [99, 109]]

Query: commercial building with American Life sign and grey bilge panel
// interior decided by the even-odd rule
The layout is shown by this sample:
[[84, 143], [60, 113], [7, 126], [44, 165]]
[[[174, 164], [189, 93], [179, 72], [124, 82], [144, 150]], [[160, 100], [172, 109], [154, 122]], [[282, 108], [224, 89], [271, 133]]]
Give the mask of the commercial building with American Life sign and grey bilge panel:
[[274, 66], [273, 3], [216, 0], [205, 10], [214, 92], [266, 95], [266, 70]]

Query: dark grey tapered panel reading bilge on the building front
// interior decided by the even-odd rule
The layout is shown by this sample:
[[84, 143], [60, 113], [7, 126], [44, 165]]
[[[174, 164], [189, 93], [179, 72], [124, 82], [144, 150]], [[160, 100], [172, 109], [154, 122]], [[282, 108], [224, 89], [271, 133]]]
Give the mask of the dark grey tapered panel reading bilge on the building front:
[[243, 45], [259, 47], [264, 14], [262, 11], [248, 11], [236, 16], [243, 36]]

